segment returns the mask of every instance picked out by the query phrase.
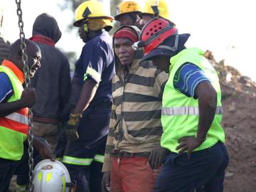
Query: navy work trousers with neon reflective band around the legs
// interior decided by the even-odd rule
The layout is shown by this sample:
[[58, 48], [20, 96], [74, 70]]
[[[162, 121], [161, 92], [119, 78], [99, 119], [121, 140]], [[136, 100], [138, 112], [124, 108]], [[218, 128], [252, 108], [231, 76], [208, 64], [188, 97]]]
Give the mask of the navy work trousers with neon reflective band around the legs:
[[100, 192], [102, 165], [104, 162], [107, 137], [96, 146], [87, 146], [83, 142], [68, 143], [63, 163], [68, 168], [70, 178], [77, 183], [77, 192]]

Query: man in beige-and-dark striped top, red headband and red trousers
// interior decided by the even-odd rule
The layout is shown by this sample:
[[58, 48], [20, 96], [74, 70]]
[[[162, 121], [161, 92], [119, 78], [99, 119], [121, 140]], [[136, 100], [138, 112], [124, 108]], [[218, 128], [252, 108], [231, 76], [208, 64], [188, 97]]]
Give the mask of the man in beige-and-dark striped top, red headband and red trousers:
[[152, 191], [161, 164], [161, 97], [168, 75], [147, 61], [139, 64], [132, 44], [139, 29], [114, 33], [116, 73], [112, 80], [112, 117], [102, 171], [102, 191]]

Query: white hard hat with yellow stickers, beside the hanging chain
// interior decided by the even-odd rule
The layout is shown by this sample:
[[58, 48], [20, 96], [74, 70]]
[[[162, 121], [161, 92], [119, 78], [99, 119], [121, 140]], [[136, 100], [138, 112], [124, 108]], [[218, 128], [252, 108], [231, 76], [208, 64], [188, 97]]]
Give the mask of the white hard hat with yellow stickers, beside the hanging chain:
[[33, 183], [35, 192], [69, 192], [72, 187], [68, 169], [60, 161], [50, 159], [36, 165]]

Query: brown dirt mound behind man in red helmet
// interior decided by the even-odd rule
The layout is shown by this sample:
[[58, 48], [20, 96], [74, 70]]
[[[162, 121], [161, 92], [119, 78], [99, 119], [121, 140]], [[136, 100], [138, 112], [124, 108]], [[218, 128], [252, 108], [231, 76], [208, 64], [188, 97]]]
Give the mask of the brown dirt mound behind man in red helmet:
[[225, 192], [255, 192], [256, 83], [224, 65], [224, 60], [217, 63], [210, 51], [205, 56], [217, 70], [222, 89], [223, 127], [230, 154]]

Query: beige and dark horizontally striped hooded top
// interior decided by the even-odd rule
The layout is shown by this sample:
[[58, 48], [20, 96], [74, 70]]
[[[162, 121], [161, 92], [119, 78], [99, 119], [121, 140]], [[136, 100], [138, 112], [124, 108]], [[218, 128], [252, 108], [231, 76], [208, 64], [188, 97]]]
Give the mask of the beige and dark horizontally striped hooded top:
[[114, 75], [112, 80], [112, 116], [103, 172], [110, 171], [113, 149], [150, 152], [162, 134], [161, 98], [168, 74], [156, 70], [151, 62], [139, 64], [137, 59], [125, 80], [122, 76]]

